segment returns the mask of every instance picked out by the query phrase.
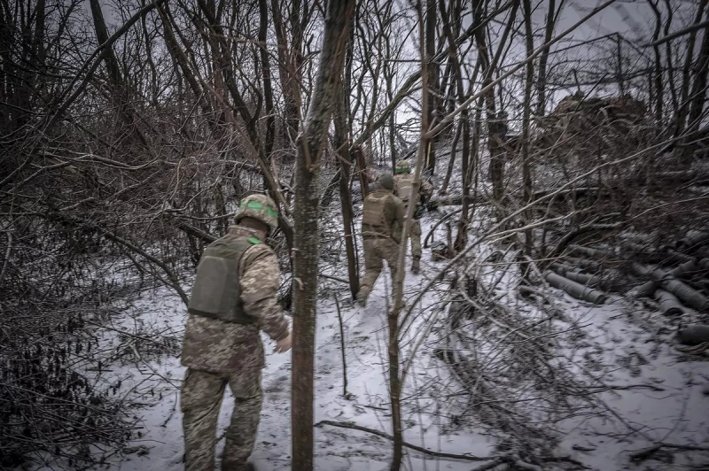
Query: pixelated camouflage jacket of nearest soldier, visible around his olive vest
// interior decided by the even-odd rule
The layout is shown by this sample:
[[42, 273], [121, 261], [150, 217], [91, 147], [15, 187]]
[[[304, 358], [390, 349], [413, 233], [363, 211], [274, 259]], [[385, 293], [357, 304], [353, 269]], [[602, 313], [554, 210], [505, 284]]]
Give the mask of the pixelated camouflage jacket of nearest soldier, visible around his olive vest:
[[[224, 237], [253, 237], [252, 229], [231, 226]], [[277, 302], [280, 283], [278, 259], [265, 243], [244, 252], [238, 267], [244, 311], [258, 322], [236, 324], [188, 314], [184, 329], [182, 363], [213, 373], [236, 373], [247, 367], [265, 366], [259, 331], [274, 340], [288, 336], [288, 320]]]

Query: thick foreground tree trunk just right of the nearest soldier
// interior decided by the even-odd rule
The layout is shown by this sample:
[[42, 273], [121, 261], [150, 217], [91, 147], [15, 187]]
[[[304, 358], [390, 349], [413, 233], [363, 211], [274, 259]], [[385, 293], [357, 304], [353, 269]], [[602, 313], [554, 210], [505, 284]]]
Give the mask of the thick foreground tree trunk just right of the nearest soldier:
[[313, 367], [319, 243], [320, 156], [338, 96], [354, 0], [331, 0], [325, 12], [323, 47], [316, 84], [295, 168], [293, 263], [292, 469], [313, 469]]

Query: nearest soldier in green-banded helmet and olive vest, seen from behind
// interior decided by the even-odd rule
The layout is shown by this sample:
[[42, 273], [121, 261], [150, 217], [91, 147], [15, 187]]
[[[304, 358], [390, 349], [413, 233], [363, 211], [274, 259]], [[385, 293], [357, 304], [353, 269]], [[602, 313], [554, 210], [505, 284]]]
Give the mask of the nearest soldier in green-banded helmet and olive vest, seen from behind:
[[227, 384], [235, 404], [222, 470], [254, 469], [247, 459], [261, 415], [265, 359], [259, 330], [276, 341], [277, 352], [291, 348], [288, 321], [277, 303], [278, 260], [262, 242], [277, 228], [277, 219], [269, 197], [245, 197], [237, 225], [210, 243], [199, 260], [182, 353], [185, 471], [214, 469], [217, 418]]

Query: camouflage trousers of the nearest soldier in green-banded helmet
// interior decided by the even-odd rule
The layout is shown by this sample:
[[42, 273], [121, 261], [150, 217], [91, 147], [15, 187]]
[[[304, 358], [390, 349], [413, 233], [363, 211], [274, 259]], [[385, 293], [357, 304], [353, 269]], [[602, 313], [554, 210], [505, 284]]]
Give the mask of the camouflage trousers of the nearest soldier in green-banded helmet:
[[188, 368], [180, 398], [185, 471], [214, 469], [216, 425], [227, 383], [234, 395], [234, 410], [226, 432], [222, 470], [245, 469], [261, 419], [261, 369], [225, 375]]

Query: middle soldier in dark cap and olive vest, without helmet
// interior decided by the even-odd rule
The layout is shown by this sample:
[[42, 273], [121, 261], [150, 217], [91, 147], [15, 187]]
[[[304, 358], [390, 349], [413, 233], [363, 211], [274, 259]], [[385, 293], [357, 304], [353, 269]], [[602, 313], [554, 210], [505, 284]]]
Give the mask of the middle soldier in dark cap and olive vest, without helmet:
[[384, 260], [392, 274], [393, 286], [404, 223], [404, 204], [393, 194], [393, 176], [381, 175], [377, 187], [364, 198], [362, 245], [366, 272], [357, 293], [357, 302], [362, 307], [367, 305], [367, 298], [382, 271]]

